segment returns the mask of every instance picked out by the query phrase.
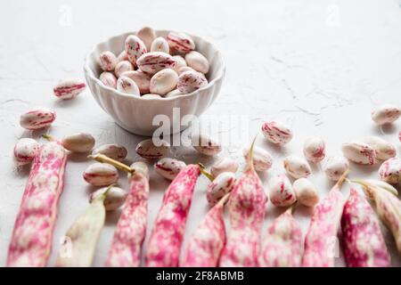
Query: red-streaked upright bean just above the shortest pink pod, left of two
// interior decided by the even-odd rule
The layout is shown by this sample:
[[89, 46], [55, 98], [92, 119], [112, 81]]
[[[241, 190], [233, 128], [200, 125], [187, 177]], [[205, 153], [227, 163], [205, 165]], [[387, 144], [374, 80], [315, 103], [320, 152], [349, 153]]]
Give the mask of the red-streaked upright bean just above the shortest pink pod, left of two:
[[297, 200], [290, 179], [286, 175], [274, 175], [269, 179], [267, 189], [274, 206], [288, 207]]

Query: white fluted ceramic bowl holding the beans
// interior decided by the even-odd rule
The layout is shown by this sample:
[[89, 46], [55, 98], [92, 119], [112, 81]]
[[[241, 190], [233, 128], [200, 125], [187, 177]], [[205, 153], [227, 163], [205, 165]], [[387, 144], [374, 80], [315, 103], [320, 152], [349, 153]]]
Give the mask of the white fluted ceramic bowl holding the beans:
[[[156, 31], [157, 36], [167, 37], [168, 30]], [[86, 82], [94, 95], [96, 102], [121, 127], [134, 134], [151, 136], [160, 126], [153, 126], [156, 115], [166, 115], [173, 121], [173, 108], [179, 108], [180, 121], [185, 115], [201, 116], [210, 104], [216, 99], [225, 77], [225, 63], [217, 48], [201, 37], [191, 36], [196, 50], [209, 60], [210, 69], [206, 77], [209, 84], [192, 94], [184, 94], [171, 98], [143, 99], [134, 95], [123, 94], [115, 89], [103, 85], [99, 80], [102, 70], [99, 66], [99, 54], [111, 51], [118, 55], [124, 50], [124, 42], [128, 32], [117, 37], [110, 37], [107, 41], [95, 45], [91, 53], [86, 56], [84, 71]], [[181, 125], [181, 124], [180, 124]], [[183, 131], [188, 126], [179, 129], [169, 128], [170, 134]]]

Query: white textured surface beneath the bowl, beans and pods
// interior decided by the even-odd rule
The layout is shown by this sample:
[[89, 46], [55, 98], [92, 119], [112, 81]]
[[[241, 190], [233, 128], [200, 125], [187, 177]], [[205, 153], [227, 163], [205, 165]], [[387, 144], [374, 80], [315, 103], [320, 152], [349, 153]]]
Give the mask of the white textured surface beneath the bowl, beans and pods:
[[[8, 1], [0, 9], [0, 265], [5, 264], [8, 242], [17, 214], [28, 169], [17, 171], [12, 147], [20, 137], [34, 136], [19, 126], [19, 116], [32, 106], [57, 111], [50, 129], [56, 137], [75, 131], [94, 134], [97, 144], [119, 142], [130, 160], [138, 159], [135, 145], [142, 138], [116, 126], [86, 90], [77, 100], [57, 101], [55, 82], [83, 77], [83, 59], [92, 46], [107, 37], [151, 25], [185, 30], [217, 45], [227, 65], [225, 83], [217, 101], [205, 115], [242, 114], [242, 127], [224, 126], [219, 132], [242, 134], [249, 143], [265, 118], [280, 118], [292, 126], [295, 136], [282, 150], [258, 144], [274, 155], [274, 170], [282, 158], [299, 153], [307, 135], [319, 134], [329, 154], [340, 153], [340, 143], [378, 134], [397, 144], [401, 121], [384, 130], [372, 125], [370, 111], [379, 103], [401, 104], [401, 7], [399, 0], [358, 1]], [[210, 7], [213, 6], [213, 9]], [[71, 22], [69, 23], [69, 12]], [[70, 24], [70, 25], [69, 25]], [[207, 117], [204, 117], [206, 120]], [[213, 133], [213, 132], [212, 132]], [[239, 145], [225, 146], [225, 153], [241, 159]], [[191, 160], [199, 160], [192, 157]], [[209, 165], [211, 160], [201, 159]], [[59, 239], [78, 213], [87, 206], [93, 188], [82, 179], [89, 162], [71, 156], [66, 185], [53, 239], [49, 265], [54, 264]], [[378, 167], [352, 165], [351, 177], [377, 177]], [[312, 180], [323, 196], [331, 188], [319, 167]], [[261, 175], [266, 184], [268, 174]], [[207, 210], [204, 185], [194, 196], [186, 233]], [[121, 185], [127, 187], [123, 179]], [[151, 173], [149, 230], [168, 186]], [[348, 193], [347, 190], [344, 191]], [[266, 224], [281, 212], [267, 210]], [[103, 264], [119, 213], [107, 217], [94, 265]], [[309, 213], [296, 216], [307, 229]], [[401, 265], [386, 231], [393, 265]], [[343, 265], [338, 258], [338, 265]]]

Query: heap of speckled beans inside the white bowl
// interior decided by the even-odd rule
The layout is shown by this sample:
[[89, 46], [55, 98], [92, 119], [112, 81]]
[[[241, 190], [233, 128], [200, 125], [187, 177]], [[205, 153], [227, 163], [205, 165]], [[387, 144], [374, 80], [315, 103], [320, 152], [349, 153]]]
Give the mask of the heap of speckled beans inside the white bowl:
[[170, 32], [164, 38], [156, 37], [152, 28], [142, 28], [127, 37], [118, 56], [110, 51], [100, 54], [100, 80], [124, 94], [143, 98], [190, 94], [208, 85], [209, 61], [195, 48], [184, 33]]

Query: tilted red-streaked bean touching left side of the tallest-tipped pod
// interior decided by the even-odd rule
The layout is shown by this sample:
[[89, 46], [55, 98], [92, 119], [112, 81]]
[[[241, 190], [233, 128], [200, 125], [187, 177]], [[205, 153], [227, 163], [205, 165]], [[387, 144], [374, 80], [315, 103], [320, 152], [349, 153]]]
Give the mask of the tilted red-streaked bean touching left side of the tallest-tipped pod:
[[224, 172], [217, 175], [213, 182], [209, 184], [206, 191], [206, 199], [208, 200], [209, 206], [215, 206], [225, 194], [231, 192], [235, 181], [236, 178], [232, 172]]

